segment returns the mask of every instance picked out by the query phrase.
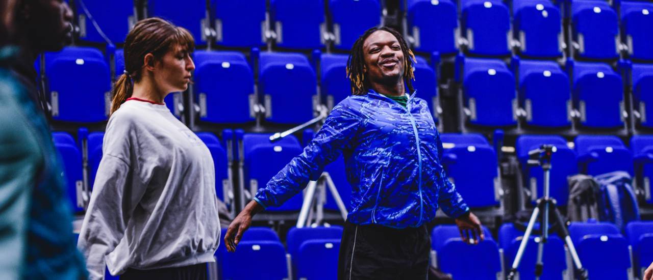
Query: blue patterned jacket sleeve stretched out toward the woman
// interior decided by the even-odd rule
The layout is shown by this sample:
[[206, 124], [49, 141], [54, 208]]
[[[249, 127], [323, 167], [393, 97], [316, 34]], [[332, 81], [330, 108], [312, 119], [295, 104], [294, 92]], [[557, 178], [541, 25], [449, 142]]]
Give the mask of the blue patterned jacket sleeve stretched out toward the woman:
[[322, 175], [325, 165], [336, 160], [343, 148], [350, 145], [359, 124], [360, 117], [346, 104], [338, 104], [302, 154], [272, 177], [265, 188], [259, 189], [254, 200], [264, 208], [281, 206], [302, 191], [310, 180]]

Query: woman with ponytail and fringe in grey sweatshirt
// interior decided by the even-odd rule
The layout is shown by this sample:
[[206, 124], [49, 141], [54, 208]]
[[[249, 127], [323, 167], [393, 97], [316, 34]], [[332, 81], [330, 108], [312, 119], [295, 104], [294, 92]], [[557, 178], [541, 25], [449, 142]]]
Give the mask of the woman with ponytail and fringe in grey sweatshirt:
[[220, 235], [215, 174], [206, 145], [163, 103], [185, 91], [194, 40], [159, 18], [125, 40], [103, 158], [78, 248], [91, 279], [104, 266], [125, 279], [206, 279]]

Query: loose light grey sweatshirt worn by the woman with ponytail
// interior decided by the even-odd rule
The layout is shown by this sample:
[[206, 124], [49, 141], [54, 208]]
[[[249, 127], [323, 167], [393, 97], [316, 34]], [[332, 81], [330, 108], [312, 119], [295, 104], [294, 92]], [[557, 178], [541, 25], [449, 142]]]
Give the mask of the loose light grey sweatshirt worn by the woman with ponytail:
[[91, 279], [127, 268], [214, 262], [215, 170], [204, 143], [166, 105], [128, 100], [106, 125], [78, 248]]

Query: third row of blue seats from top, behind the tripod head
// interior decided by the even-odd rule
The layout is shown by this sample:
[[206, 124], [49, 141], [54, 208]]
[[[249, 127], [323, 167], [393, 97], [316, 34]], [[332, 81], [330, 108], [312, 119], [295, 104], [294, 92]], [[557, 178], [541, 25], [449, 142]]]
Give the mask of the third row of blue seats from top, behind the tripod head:
[[[234, 135], [235, 134], [235, 135]], [[206, 143], [215, 163], [217, 197], [232, 206], [235, 197], [249, 201], [258, 188], [276, 175], [292, 158], [302, 152], [303, 145], [312, 137], [312, 131], [304, 133], [304, 143], [290, 135], [271, 143], [269, 134], [232, 133], [225, 130], [223, 139], [215, 134], [198, 132]], [[71, 204], [75, 212], [84, 210], [89, 192], [93, 188], [95, 173], [102, 158], [103, 132], [88, 133], [86, 129], [78, 132], [78, 141], [67, 132], [54, 132], [57, 150], [65, 163]], [[498, 208], [502, 204], [502, 184], [498, 173], [498, 158], [494, 147], [480, 134], [443, 133], [443, 165], [456, 189], [474, 208]], [[653, 204], [650, 195], [650, 178], [653, 177], [653, 136], [634, 136], [630, 148], [614, 136], [580, 135], [575, 139], [574, 148], [569, 148], [560, 136], [523, 135], [518, 138], [517, 158], [522, 165], [524, 182], [530, 190], [529, 200], [543, 196], [543, 174], [541, 167], [526, 164], [528, 151], [541, 145], [555, 145], [557, 151], [552, 157], [555, 168], [550, 175], [550, 195], [565, 206], [569, 195], [567, 178], [577, 173], [600, 175], [612, 171], [626, 171], [636, 176], [636, 183], [643, 189], [643, 200]], [[470, 170], [475, 176], [468, 176]], [[347, 182], [342, 157], [325, 167], [332, 178], [345, 206], [349, 205], [351, 186]], [[85, 178], [88, 178], [85, 180]], [[302, 206], [302, 196], [296, 195], [279, 207], [270, 207], [268, 212], [298, 212]], [[338, 210], [331, 195], [325, 204], [327, 210]]]

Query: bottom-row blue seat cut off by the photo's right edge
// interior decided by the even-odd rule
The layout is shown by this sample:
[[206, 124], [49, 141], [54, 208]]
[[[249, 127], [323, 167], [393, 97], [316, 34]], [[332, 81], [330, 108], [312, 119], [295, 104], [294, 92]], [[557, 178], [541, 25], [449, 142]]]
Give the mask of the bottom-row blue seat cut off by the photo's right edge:
[[653, 262], [653, 222], [631, 221], [626, 225], [626, 236], [633, 248], [633, 268], [641, 279]]

